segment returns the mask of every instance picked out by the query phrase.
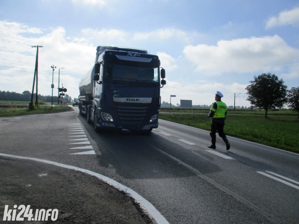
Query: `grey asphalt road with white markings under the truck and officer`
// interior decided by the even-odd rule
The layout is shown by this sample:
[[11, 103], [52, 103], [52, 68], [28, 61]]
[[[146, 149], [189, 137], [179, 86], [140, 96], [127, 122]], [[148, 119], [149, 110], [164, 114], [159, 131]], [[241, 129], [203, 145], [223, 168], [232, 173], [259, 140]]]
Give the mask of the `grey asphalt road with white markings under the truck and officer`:
[[[210, 150], [207, 131], [163, 120], [149, 136], [98, 134], [77, 112], [0, 125], [0, 153], [103, 174], [147, 199], [169, 223], [299, 223], [298, 154], [229, 136], [229, 151], [218, 136]], [[70, 140], [81, 128], [86, 137]]]

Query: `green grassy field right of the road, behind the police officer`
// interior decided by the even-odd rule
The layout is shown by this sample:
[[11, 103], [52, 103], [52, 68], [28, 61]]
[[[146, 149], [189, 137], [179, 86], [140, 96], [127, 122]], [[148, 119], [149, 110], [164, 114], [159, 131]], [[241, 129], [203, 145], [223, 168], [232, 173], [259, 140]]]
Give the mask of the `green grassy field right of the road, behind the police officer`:
[[[179, 112], [169, 114], [168, 111], [167, 113], [160, 113], [159, 118], [209, 131], [211, 121], [208, 118], [208, 111], [193, 113], [193, 116], [190, 113]], [[297, 113], [289, 110], [269, 111], [267, 119], [264, 116], [264, 111], [257, 110], [254, 113], [253, 111], [242, 113], [228, 111], [225, 133], [228, 136], [299, 153], [299, 119]]]

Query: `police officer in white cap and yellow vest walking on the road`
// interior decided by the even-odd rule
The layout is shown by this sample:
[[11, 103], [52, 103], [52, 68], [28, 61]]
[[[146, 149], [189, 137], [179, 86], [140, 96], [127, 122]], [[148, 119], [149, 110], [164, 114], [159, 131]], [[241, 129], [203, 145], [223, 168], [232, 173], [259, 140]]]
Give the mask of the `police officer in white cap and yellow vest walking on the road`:
[[216, 131], [218, 131], [219, 136], [225, 142], [226, 150], [229, 150], [231, 148], [231, 145], [228, 142], [225, 133], [223, 132], [227, 106], [224, 102], [221, 101], [221, 97], [223, 97], [223, 94], [217, 91], [217, 93], [215, 94], [216, 102], [213, 103], [210, 109], [210, 113], [208, 114], [208, 117], [210, 117], [212, 120], [210, 131], [212, 145], [208, 147], [213, 149], [216, 148]]

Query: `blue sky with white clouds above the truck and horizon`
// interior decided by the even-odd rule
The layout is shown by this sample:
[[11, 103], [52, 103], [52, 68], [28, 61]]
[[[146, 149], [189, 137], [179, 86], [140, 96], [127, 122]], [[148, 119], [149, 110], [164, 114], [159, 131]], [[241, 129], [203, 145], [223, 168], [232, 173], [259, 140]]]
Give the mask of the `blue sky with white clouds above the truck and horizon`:
[[[0, 0], [0, 90], [51, 95], [51, 65], [74, 98], [98, 45], [147, 49], [166, 70], [162, 101], [250, 106], [246, 86], [275, 73], [299, 86], [299, 2], [292, 0]], [[57, 94], [58, 69], [54, 71]], [[236, 98], [234, 94], [236, 93]]]

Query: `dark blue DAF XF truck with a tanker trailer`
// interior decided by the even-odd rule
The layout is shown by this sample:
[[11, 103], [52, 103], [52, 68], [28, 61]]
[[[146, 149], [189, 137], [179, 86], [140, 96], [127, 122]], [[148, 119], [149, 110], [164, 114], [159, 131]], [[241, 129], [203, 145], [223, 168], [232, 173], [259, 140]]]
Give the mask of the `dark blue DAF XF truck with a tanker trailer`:
[[94, 65], [79, 83], [79, 113], [95, 131], [158, 128], [165, 70], [144, 49], [98, 46]]

